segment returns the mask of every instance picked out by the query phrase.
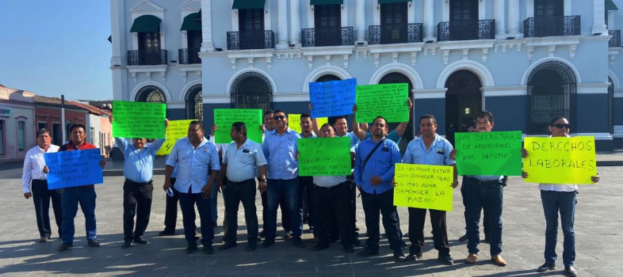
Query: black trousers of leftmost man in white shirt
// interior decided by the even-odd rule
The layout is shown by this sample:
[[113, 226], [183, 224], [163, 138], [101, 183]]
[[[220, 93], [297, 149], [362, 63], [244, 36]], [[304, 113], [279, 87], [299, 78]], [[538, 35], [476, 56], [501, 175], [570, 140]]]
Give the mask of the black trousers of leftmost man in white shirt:
[[61, 237], [61, 224], [63, 222], [63, 210], [61, 208], [61, 194], [57, 190], [48, 190], [48, 181], [33, 180], [32, 186], [33, 202], [35, 203], [35, 213], [37, 213], [37, 228], [39, 235], [50, 237], [52, 228], [50, 226], [50, 200], [54, 209], [54, 219], [58, 226], [58, 236]]

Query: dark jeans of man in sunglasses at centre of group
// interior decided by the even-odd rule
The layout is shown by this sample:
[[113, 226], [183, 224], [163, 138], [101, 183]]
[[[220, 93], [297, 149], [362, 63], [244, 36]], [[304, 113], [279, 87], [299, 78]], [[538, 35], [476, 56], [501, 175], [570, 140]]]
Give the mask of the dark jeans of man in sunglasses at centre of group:
[[303, 213], [298, 208], [298, 177], [287, 180], [268, 179], [267, 185], [267, 226], [264, 227], [267, 240], [277, 237], [277, 208], [281, 197], [285, 199], [291, 231], [294, 237], [300, 237], [303, 233]]

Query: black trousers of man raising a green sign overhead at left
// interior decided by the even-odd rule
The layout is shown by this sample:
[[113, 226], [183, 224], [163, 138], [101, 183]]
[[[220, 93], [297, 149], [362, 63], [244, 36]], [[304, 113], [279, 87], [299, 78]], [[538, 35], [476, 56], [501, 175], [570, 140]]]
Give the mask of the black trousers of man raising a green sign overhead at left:
[[[123, 240], [129, 241], [145, 233], [147, 224], [150, 223], [153, 193], [153, 181], [136, 183], [125, 179], [123, 184]], [[134, 215], [136, 215], [136, 229], [134, 229]]]

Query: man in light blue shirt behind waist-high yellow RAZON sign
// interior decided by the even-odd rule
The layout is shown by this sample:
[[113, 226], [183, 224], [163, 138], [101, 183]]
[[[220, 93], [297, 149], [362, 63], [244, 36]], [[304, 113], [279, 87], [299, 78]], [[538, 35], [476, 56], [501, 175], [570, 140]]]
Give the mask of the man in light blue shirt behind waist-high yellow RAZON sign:
[[[419, 118], [419, 129], [422, 136], [414, 139], [407, 145], [404, 154], [404, 163], [424, 164], [433, 166], [454, 166], [453, 188], [458, 185], [457, 172], [454, 159], [451, 159], [452, 145], [449, 141], [439, 136], [435, 116], [425, 114]], [[446, 211], [428, 210], [431, 213], [433, 225], [433, 240], [435, 249], [439, 251], [437, 259], [446, 265], [453, 265], [454, 260], [450, 256], [448, 244], [448, 232], [446, 231]], [[409, 248], [408, 260], [422, 258], [424, 248], [424, 220], [426, 220], [425, 208], [409, 208]]]

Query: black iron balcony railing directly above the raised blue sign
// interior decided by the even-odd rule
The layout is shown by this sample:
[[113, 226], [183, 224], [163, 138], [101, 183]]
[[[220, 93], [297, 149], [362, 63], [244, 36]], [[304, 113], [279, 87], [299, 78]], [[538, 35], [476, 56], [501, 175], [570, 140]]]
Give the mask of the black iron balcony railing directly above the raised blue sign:
[[354, 45], [353, 28], [334, 29], [304, 28], [300, 30], [303, 47]]

